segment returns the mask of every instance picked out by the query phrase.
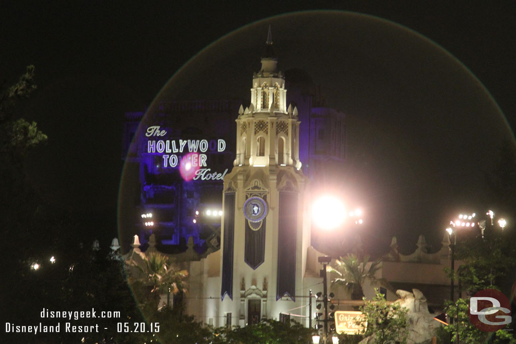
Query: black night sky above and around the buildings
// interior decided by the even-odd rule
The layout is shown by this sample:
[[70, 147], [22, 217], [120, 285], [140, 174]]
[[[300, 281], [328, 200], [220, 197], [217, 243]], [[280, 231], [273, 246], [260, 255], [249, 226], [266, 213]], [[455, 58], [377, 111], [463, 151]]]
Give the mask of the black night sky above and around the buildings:
[[[96, 230], [115, 236], [124, 112], [158, 94], [248, 99], [271, 24], [279, 69], [306, 70], [347, 114], [343, 190], [364, 203], [367, 233], [386, 242], [409, 233], [409, 248], [425, 233], [438, 244], [455, 212], [490, 206], [483, 174], [504, 140], [514, 144], [516, 5], [374, 3], [3, 3], [0, 76], [10, 84], [36, 66], [38, 90], [20, 113], [49, 136], [29, 156], [30, 178], [52, 204], [107, 216]], [[246, 26], [322, 8], [364, 15], [305, 12]]]

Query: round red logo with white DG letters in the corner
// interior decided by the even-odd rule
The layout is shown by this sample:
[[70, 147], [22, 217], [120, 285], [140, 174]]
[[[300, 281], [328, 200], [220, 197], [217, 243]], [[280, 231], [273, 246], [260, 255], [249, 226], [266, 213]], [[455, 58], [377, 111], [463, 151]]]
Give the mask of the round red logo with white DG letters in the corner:
[[511, 323], [511, 304], [503, 292], [483, 289], [470, 299], [470, 321], [484, 332], [494, 332]]

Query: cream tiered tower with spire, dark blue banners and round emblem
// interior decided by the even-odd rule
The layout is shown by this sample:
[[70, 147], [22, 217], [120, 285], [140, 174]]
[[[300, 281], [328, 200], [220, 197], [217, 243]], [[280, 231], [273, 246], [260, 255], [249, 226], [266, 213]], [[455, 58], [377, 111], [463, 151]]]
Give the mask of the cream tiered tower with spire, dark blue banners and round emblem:
[[301, 315], [293, 319], [304, 323], [308, 298], [299, 296], [320, 282], [307, 273], [309, 196], [300, 170], [300, 122], [297, 109], [287, 108], [270, 28], [261, 63], [251, 105], [240, 106], [236, 119], [234, 167], [223, 179], [221, 250], [190, 265], [188, 312], [219, 326], [279, 319], [280, 313]]

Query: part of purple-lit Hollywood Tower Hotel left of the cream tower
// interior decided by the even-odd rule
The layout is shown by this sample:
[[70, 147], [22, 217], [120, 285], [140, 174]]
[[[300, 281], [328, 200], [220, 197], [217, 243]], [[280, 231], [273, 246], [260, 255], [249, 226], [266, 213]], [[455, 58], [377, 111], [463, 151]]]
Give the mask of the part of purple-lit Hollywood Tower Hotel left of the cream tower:
[[[200, 178], [185, 181], [179, 161], [187, 155], [190, 142], [197, 144], [204, 140], [207, 150], [203, 155], [209, 173], [231, 170], [235, 150], [229, 138], [235, 136], [233, 114], [240, 104], [240, 101], [223, 100], [171, 101], [160, 102], [147, 114], [125, 113], [122, 157], [126, 164], [138, 170], [134, 233], [143, 242], [154, 233], [164, 247], [184, 247], [189, 237], [200, 250], [206, 244], [218, 246], [220, 216], [204, 215], [208, 209], [211, 213], [221, 209], [222, 181]], [[159, 127], [166, 134], [148, 137], [148, 127]], [[180, 140], [188, 142], [183, 152], [179, 152]], [[221, 152], [217, 150], [219, 140], [225, 143]], [[164, 149], [160, 149], [158, 141], [166, 142]], [[170, 158], [172, 155], [178, 157], [177, 166], [171, 166], [176, 162]]]

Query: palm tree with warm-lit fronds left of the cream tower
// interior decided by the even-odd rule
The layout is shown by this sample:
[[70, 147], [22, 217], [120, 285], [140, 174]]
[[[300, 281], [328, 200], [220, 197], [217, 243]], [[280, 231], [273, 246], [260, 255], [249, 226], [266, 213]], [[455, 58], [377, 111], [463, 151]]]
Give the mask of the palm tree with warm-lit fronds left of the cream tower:
[[185, 281], [188, 271], [176, 269], [168, 260], [166, 256], [153, 252], [143, 259], [143, 266], [134, 261], [131, 265], [142, 273], [140, 280], [152, 286], [151, 293], [154, 293], [155, 299], [159, 298], [159, 294], [167, 293], [167, 306], [170, 306], [170, 293], [175, 295], [188, 291]]

